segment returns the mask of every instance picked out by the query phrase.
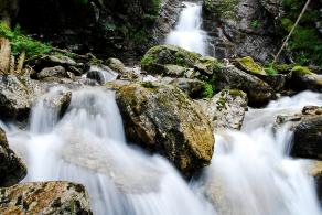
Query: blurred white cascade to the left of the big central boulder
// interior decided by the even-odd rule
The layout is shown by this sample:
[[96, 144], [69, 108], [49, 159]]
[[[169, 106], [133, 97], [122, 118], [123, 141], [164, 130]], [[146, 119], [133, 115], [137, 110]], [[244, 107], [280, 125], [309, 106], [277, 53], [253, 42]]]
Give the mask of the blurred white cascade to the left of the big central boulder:
[[[57, 120], [56, 110], [43, 104], [60, 92], [39, 99], [30, 131], [7, 128], [11, 147], [26, 160], [24, 181], [82, 183], [98, 215], [215, 214], [168, 161], [126, 143], [112, 92], [73, 92], [67, 112]], [[45, 115], [51, 117], [40, 120]]]

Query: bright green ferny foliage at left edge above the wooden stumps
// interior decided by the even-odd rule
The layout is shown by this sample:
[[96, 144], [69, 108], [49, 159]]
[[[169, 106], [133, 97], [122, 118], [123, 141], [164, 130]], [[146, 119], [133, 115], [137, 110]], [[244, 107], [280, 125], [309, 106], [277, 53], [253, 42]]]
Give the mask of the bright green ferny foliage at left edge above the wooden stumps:
[[0, 22], [0, 36], [7, 37], [11, 42], [11, 51], [13, 55], [19, 55], [25, 52], [26, 57], [32, 57], [40, 54], [51, 52], [52, 47], [49, 44], [36, 41], [21, 32], [19, 25], [11, 31], [6, 23]]

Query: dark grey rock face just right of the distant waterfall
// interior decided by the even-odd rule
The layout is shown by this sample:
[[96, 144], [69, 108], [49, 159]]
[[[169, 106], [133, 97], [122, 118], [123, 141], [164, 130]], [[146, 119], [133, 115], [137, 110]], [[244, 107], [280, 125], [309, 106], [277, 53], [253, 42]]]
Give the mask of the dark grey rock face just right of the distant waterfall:
[[[265, 3], [264, 3], [265, 2]], [[271, 15], [275, 7], [261, 0], [207, 0], [203, 22], [218, 58], [251, 56], [269, 63], [281, 44]]]

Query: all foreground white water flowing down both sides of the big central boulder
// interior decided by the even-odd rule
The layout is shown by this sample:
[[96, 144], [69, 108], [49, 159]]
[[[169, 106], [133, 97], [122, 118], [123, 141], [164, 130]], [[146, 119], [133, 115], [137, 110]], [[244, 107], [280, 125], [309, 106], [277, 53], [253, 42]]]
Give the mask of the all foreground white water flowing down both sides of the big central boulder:
[[[286, 154], [291, 133], [286, 128], [276, 135], [271, 130], [277, 114], [322, 105], [321, 94], [307, 92], [273, 101], [266, 109], [250, 109], [244, 131], [216, 135], [212, 164], [189, 186], [168, 161], [126, 143], [112, 92], [73, 92], [67, 112], [58, 119], [53, 117], [56, 110], [42, 104], [61, 90], [53, 88], [39, 99], [30, 131], [13, 126], [6, 130], [11, 147], [28, 162], [24, 181], [83, 183], [94, 214], [322, 214], [308, 162]], [[51, 117], [39, 120], [44, 114]]]

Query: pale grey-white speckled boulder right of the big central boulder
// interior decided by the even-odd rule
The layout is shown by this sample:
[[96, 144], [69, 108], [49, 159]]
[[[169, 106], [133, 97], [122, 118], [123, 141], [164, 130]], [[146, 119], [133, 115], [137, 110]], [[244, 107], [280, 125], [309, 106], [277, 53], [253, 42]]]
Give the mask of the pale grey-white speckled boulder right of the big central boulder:
[[247, 95], [238, 89], [222, 90], [208, 100], [198, 100], [215, 130], [240, 130], [247, 110]]

